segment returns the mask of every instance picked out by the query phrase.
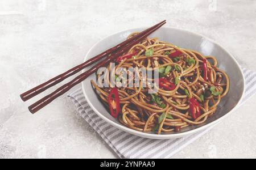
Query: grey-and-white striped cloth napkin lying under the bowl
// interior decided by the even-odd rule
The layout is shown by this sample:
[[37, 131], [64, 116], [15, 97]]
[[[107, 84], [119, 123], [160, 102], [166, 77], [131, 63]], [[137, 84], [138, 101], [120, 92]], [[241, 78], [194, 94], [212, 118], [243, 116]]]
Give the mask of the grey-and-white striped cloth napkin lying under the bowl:
[[[246, 90], [243, 102], [251, 97], [256, 90], [256, 73], [242, 69], [246, 79]], [[77, 111], [90, 126], [104, 139], [120, 158], [171, 158], [176, 152], [207, 133], [213, 126], [188, 137], [178, 139], [147, 139], [126, 133], [102, 120], [85, 101], [81, 88], [71, 92], [68, 97], [77, 107]]]

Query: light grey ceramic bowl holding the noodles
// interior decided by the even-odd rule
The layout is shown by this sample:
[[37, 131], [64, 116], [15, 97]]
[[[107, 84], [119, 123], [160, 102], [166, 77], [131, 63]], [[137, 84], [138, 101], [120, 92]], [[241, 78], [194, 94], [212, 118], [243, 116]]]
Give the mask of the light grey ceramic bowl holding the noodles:
[[[106, 37], [105, 39], [97, 42], [86, 54], [85, 60], [104, 52], [106, 49], [117, 45], [119, 42], [126, 40], [126, 37], [134, 31], [142, 31], [146, 28], [135, 28], [114, 33]], [[216, 113], [212, 117], [208, 118], [207, 122], [197, 126], [188, 126], [182, 129], [179, 133], [163, 133], [163, 134], [153, 134], [144, 133], [141, 131], [136, 131], [126, 126], [120, 124], [117, 119], [110, 116], [109, 111], [104, 107], [96, 93], [94, 92], [90, 80], [96, 81], [96, 75], [90, 75], [86, 80], [82, 82], [82, 89], [84, 92], [85, 99], [88, 101], [90, 107], [93, 111], [98, 114], [103, 120], [109, 122], [109, 124], [115, 126], [118, 129], [127, 131], [131, 134], [138, 135], [144, 138], [154, 138], [154, 139], [170, 139], [170, 138], [180, 138], [185, 135], [190, 135], [196, 133], [197, 131], [203, 130], [209, 126], [217, 124], [228, 114], [232, 113], [234, 109], [238, 106], [241, 101], [243, 92], [245, 90], [245, 79], [242, 74], [242, 70], [238, 65], [236, 59], [227, 52], [222, 46], [218, 45], [216, 42], [209, 40], [207, 37], [201, 36], [196, 33], [189, 31], [184, 31], [177, 28], [163, 27], [158, 31], [154, 32], [150, 37], [159, 37], [159, 40], [171, 42], [181, 48], [196, 50], [205, 56], [215, 56], [218, 60], [218, 67], [224, 70], [230, 78], [230, 90], [228, 94], [221, 100], [217, 107]], [[85, 70], [83, 70], [85, 71]]]

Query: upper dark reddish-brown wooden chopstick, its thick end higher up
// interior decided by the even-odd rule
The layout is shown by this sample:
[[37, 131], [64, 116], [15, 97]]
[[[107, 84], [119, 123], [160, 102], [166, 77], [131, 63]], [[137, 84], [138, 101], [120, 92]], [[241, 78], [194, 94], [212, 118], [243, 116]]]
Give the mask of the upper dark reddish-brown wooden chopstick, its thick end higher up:
[[88, 59], [87, 61], [81, 63], [80, 65], [77, 65], [77, 66], [73, 67], [72, 69], [69, 69], [65, 73], [57, 75], [54, 78], [48, 80], [47, 82], [42, 83], [39, 86], [36, 86], [36, 87], [32, 88], [31, 90], [28, 90], [28, 91], [24, 92], [23, 94], [20, 95], [21, 99], [23, 101], [31, 99], [32, 97], [34, 97], [34, 96], [40, 94], [41, 92], [47, 90], [49, 87], [52, 87], [55, 84], [62, 82], [63, 80], [67, 79], [69, 76], [74, 75], [74, 74], [78, 73], [79, 71], [81, 71], [82, 69], [84, 69], [85, 67], [88, 67], [88, 66], [92, 65], [93, 63], [97, 62], [101, 58], [104, 58], [106, 56], [109, 56], [109, 54], [117, 52], [117, 50], [123, 48], [123, 46], [129, 44], [130, 42], [132, 42], [136, 39], [138, 39], [140, 36], [142, 36], [147, 31], [150, 31], [151, 29], [154, 29], [154, 28], [158, 27], [158, 25], [160, 25], [164, 22], [166, 22], [166, 20], [163, 20], [162, 22], [154, 25], [153, 27], [144, 30], [140, 34], [138, 34], [134, 37], [131, 37], [131, 39], [123, 41], [120, 44], [114, 46], [113, 48], [110, 48], [110, 49], [106, 50], [105, 52], [102, 52], [101, 54], [98, 54], [97, 56]]

